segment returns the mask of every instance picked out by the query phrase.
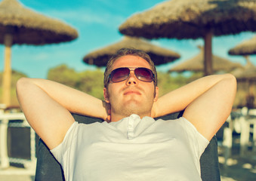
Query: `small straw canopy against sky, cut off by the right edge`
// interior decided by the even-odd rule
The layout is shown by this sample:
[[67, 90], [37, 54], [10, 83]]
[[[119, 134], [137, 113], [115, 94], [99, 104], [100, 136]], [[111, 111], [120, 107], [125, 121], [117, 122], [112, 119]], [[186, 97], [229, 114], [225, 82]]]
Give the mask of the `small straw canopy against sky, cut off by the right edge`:
[[245, 40], [240, 44], [237, 44], [236, 47], [231, 48], [228, 51], [230, 55], [251, 55], [256, 54], [256, 36], [251, 39]]

